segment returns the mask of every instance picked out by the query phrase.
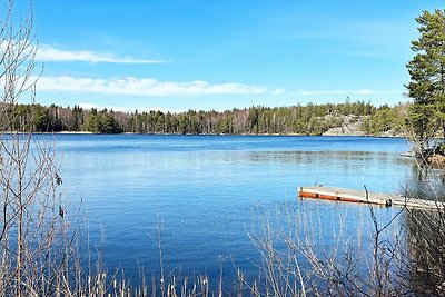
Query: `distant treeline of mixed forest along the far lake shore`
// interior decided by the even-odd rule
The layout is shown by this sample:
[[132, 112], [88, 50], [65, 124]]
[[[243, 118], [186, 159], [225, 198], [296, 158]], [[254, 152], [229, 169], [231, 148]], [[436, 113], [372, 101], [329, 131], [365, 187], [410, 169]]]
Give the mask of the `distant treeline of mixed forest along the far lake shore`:
[[18, 105], [11, 108], [9, 119], [2, 120], [10, 121], [10, 127], [14, 130], [33, 132], [322, 135], [329, 128], [340, 127], [345, 116], [354, 115], [362, 120], [362, 130], [366, 135], [378, 135], [388, 130], [403, 130], [406, 109], [407, 105], [375, 107], [364, 101], [275, 108], [250, 107], [221, 112], [188, 110], [179, 113]]

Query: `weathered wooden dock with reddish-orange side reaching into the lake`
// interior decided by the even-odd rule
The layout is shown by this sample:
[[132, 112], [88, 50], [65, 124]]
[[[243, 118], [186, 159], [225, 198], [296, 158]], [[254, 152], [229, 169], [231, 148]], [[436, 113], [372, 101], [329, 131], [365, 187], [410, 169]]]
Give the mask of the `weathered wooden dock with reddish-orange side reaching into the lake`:
[[365, 190], [342, 189], [324, 186], [300, 187], [298, 196], [301, 198], [325, 199], [335, 201], [368, 204], [377, 206], [396, 206], [421, 209], [444, 209], [444, 202], [407, 198], [400, 195], [373, 192]]

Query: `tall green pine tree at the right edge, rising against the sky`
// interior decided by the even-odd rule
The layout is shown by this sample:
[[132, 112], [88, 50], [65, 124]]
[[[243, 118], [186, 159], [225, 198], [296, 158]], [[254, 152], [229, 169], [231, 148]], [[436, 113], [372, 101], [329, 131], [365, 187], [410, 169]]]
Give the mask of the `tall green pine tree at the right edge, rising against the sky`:
[[416, 19], [421, 37], [413, 41], [416, 56], [407, 63], [414, 99], [409, 121], [422, 143], [441, 133], [445, 137], [445, 10], [424, 11]]

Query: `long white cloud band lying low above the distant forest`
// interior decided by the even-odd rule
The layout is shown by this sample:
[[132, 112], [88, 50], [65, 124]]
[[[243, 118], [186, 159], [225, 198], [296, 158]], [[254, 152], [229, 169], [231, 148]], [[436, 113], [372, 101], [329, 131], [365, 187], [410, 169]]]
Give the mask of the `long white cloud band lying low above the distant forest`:
[[204, 96], [204, 95], [251, 95], [265, 93], [267, 89], [260, 86], [250, 86], [236, 82], [209, 83], [202, 80], [189, 82], [158, 81], [152, 78], [75, 78], [75, 77], [41, 77], [38, 90], [40, 91], [70, 91], [101, 95], [127, 96]]

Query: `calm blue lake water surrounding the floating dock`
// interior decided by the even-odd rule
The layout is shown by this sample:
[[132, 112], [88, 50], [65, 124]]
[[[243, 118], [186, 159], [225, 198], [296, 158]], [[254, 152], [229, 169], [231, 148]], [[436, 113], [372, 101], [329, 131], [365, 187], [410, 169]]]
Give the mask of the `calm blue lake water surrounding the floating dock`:
[[[67, 196], [82, 199], [89, 241], [106, 267], [137, 276], [159, 273], [158, 230], [167, 271], [235, 276], [254, 269], [248, 238], [259, 211], [286, 207], [317, 214], [332, 228], [338, 214], [355, 222], [367, 207], [299, 200], [296, 187], [397, 192], [414, 179], [399, 138], [56, 135]], [[388, 218], [394, 210], [380, 208]], [[365, 214], [365, 215], [364, 215]], [[325, 221], [326, 220], [326, 221]], [[159, 221], [161, 227], [159, 228]], [[352, 224], [354, 225], [354, 224]], [[328, 241], [328, 236], [326, 237]]]

